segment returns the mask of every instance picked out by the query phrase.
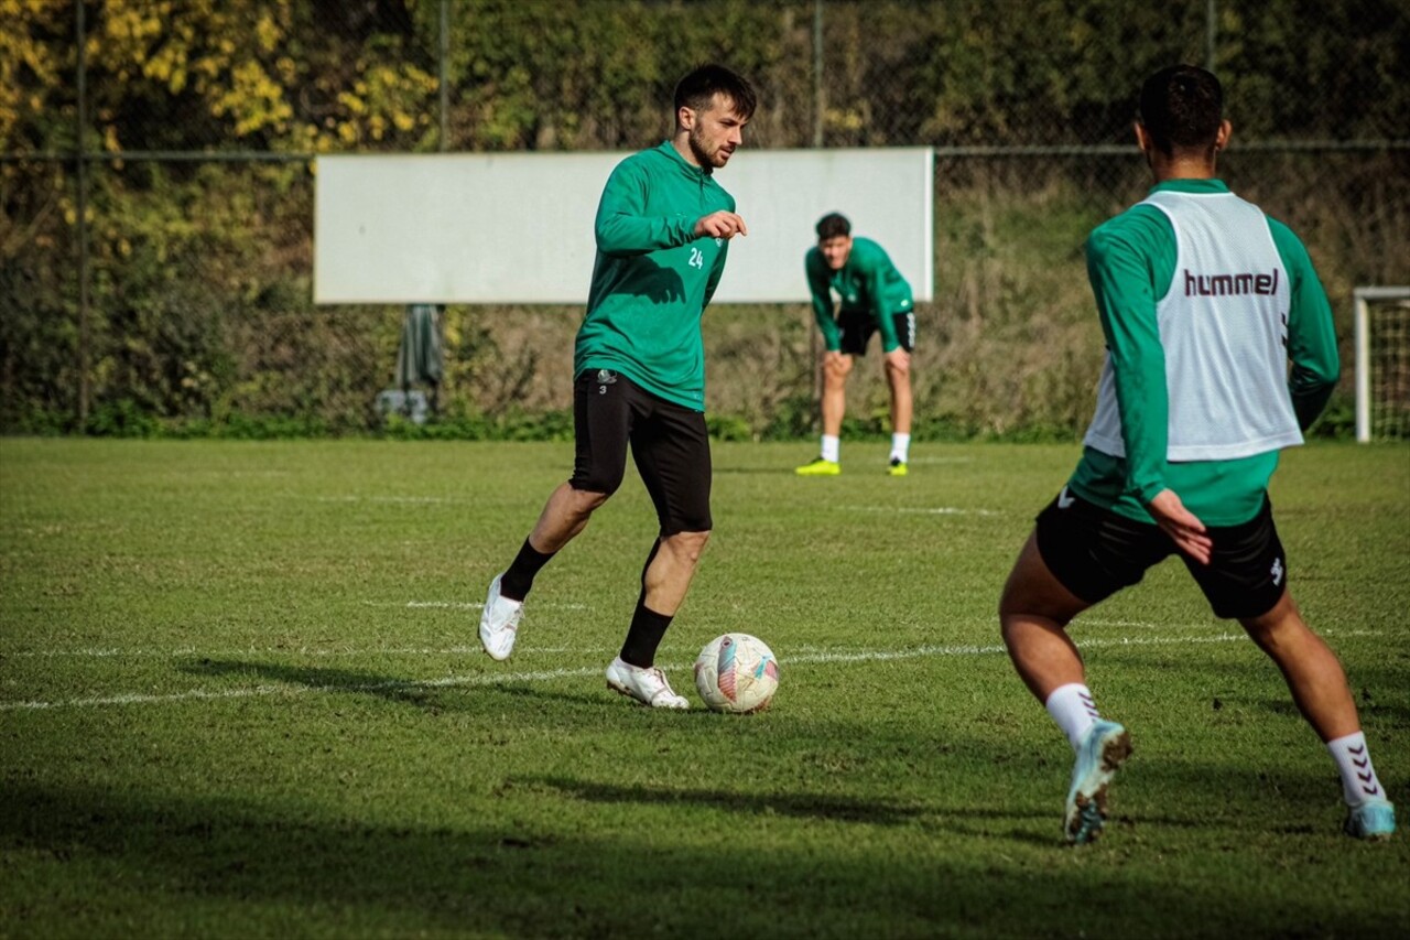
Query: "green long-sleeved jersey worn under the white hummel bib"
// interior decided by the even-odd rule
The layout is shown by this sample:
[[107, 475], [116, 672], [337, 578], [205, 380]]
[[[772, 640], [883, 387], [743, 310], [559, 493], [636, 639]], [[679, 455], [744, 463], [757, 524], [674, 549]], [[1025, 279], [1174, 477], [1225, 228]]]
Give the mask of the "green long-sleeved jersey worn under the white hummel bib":
[[[1228, 192], [1218, 179], [1166, 181], [1151, 191], [1152, 196]], [[1169, 196], [1160, 198], [1170, 202]], [[1262, 213], [1259, 219], [1268, 229], [1259, 236], [1265, 240], [1270, 236], [1282, 264], [1279, 275], [1286, 278], [1286, 284], [1279, 285], [1275, 275], [1268, 275], [1268, 284], [1286, 289], [1287, 308], [1280, 311], [1286, 325], [1283, 360], [1285, 364], [1287, 358], [1293, 363], [1287, 392], [1296, 423], [1306, 429], [1325, 406], [1340, 371], [1331, 306], [1297, 236], [1275, 219]], [[1204, 288], [1210, 287], [1207, 282], [1201, 285], [1189, 271], [1183, 272], [1183, 279], [1177, 277], [1180, 246], [1170, 216], [1149, 200], [1132, 206], [1093, 230], [1086, 250], [1087, 272], [1107, 340], [1112, 391], [1120, 402], [1124, 453], [1118, 456], [1110, 449], [1093, 447], [1089, 432], [1089, 446], [1083, 449], [1069, 487], [1091, 502], [1144, 522], [1153, 521], [1145, 505], [1166, 488], [1179, 494], [1186, 508], [1207, 525], [1237, 525], [1253, 518], [1277, 467], [1277, 447], [1231, 459], [1169, 459], [1172, 391], [1180, 398], [1203, 394], [1217, 399], [1230, 394], [1230, 388], [1191, 391], [1184, 387], [1172, 390], [1167, 384], [1172, 377], [1166, 375], [1166, 350], [1156, 311], [1179, 284], [1193, 281], [1196, 294], [1208, 294]], [[1228, 284], [1230, 299], [1244, 299], [1232, 296], [1241, 294], [1242, 287], [1235, 285], [1232, 278]], [[1186, 284], [1186, 292], [1190, 291]], [[1215, 384], [1234, 391], [1239, 382], [1238, 374], [1215, 380]]]

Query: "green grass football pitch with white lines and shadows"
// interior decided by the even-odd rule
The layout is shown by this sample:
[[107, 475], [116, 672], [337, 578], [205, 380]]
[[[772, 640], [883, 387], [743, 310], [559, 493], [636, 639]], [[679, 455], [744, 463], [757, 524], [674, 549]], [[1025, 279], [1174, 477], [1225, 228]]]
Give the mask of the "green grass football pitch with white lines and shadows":
[[0, 936], [1404, 937], [1410, 449], [1289, 452], [1292, 584], [1402, 807], [1340, 833], [1276, 669], [1177, 562], [1081, 617], [1135, 754], [1060, 844], [1070, 748], [994, 607], [1077, 446], [716, 445], [660, 665], [725, 631], [774, 707], [611, 693], [654, 517], [630, 476], [519, 646], [485, 584], [571, 445], [0, 440]]

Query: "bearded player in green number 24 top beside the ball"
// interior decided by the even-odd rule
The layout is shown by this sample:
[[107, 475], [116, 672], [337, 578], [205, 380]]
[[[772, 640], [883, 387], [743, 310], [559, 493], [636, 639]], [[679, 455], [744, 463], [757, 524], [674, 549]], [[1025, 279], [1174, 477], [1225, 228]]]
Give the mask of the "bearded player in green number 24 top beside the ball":
[[658, 531], [606, 680], [651, 707], [688, 707], [654, 659], [712, 528], [701, 316], [725, 271], [730, 239], [747, 234], [715, 171], [743, 143], [754, 102], [753, 88], [735, 72], [719, 65], [692, 71], [675, 86], [673, 137], [627, 157], [608, 178], [574, 349], [572, 476], [553, 491], [517, 556], [489, 584], [479, 639], [494, 659], [513, 651], [534, 576], [622, 484], [630, 446]]

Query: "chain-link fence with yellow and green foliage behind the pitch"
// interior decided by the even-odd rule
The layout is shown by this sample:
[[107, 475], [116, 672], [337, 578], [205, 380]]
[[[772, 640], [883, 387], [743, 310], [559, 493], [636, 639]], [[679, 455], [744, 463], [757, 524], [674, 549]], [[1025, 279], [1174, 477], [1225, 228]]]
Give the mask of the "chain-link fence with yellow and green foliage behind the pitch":
[[[1081, 243], [1144, 195], [1135, 92], [1177, 61], [1224, 80], [1224, 176], [1307, 243], [1349, 366], [1352, 288], [1410, 281], [1407, 49], [1403, 0], [0, 0], [0, 430], [382, 426], [402, 309], [313, 305], [314, 157], [639, 150], [704, 61], [756, 83], [750, 147], [935, 148], [916, 436], [1083, 425]], [[580, 316], [447, 309], [441, 432], [567, 433]], [[718, 433], [812, 428], [804, 305], [705, 336]]]

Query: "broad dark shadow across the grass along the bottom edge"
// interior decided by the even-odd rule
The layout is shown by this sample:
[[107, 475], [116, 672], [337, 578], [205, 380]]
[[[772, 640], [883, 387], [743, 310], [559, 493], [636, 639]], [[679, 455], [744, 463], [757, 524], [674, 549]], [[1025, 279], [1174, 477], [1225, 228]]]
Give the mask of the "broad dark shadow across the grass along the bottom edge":
[[[550, 786], [588, 800], [673, 800], [649, 788]], [[780, 820], [749, 823], [682, 809], [663, 823], [525, 807], [300, 803], [97, 786], [11, 776], [0, 847], [11, 876], [0, 908], [16, 936], [516, 936], [933, 937], [933, 936], [1393, 936], [1407, 908], [1375, 892], [1237, 891], [1197, 867], [1160, 879], [1097, 847], [1042, 861], [939, 834], [864, 837]], [[687, 792], [736, 810], [744, 803]], [[797, 817], [905, 821], [904, 806], [781, 796]], [[654, 816], [654, 820], [651, 819]], [[412, 814], [415, 817], [415, 814]], [[520, 821], [516, 821], [520, 820]], [[537, 819], [536, 823], [522, 821]], [[388, 821], [392, 820], [392, 821]], [[907, 828], [898, 830], [904, 836]], [[902, 845], [905, 848], [902, 848]], [[1310, 871], [1317, 871], [1313, 867]], [[1369, 869], [1366, 881], [1375, 881]], [[1286, 882], [1285, 882], [1286, 884]], [[1073, 905], [1100, 885], [1101, 903]], [[737, 903], [721, 903], [733, 898]], [[1191, 924], [1198, 929], [1191, 932]]]

